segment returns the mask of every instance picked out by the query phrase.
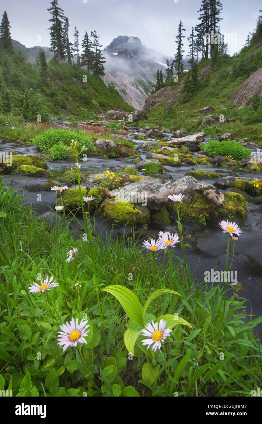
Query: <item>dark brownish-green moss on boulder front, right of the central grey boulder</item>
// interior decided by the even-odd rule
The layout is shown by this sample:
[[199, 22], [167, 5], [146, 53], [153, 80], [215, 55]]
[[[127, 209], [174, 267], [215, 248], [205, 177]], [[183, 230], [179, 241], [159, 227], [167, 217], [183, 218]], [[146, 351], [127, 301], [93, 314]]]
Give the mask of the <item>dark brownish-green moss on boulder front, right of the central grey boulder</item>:
[[[171, 204], [168, 211], [172, 218], [177, 219], [177, 206]], [[179, 206], [179, 213], [183, 220], [206, 225], [208, 220], [218, 218], [218, 211], [205, 198], [199, 196], [190, 204], [183, 202]]]

